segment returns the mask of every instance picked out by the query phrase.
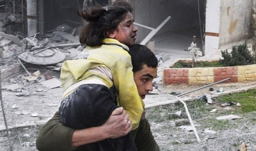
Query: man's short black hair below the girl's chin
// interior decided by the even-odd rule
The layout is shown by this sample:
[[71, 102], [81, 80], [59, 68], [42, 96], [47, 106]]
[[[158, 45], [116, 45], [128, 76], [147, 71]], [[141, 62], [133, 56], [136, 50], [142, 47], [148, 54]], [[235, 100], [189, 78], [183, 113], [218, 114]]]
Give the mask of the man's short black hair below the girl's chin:
[[145, 45], [135, 44], [129, 47], [129, 54], [132, 57], [133, 73], [140, 71], [143, 65], [152, 68], [158, 65], [155, 54]]

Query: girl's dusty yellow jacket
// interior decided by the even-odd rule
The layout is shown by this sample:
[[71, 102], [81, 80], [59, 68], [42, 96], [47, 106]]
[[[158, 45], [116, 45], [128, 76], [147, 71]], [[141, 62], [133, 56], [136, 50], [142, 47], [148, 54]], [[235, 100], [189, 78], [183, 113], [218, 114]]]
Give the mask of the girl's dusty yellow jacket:
[[[104, 39], [104, 44], [100, 47], [86, 47], [81, 55], [86, 54], [87, 59], [68, 60], [63, 63], [61, 82], [64, 91], [83, 80], [101, 80], [108, 88], [114, 85], [117, 103], [129, 114], [134, 130], [139, 126], [144, 103], [133, 79], [132, 61], [128, 51], [126, 45], [111, 38]], [[110, 69], [113, 79], [93, 71], [97, 67]]]

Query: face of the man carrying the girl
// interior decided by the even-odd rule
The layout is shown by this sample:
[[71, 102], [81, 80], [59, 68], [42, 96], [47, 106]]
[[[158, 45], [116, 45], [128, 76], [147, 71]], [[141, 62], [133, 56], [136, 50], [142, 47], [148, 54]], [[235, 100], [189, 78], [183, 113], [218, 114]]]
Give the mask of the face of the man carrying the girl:
[[142, 99], [146, 97], [149, 91], [152, 91], [152, 81], [157, 76], [157, 68], [143, 65], [140, 71], [134, 73], [134, 82], [137, 86], [139, 95]]

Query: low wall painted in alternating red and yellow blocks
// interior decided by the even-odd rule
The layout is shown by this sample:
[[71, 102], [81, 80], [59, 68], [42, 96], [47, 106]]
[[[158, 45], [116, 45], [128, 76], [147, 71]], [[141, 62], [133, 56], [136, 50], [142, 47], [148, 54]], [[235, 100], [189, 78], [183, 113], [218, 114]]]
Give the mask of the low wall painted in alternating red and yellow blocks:
[[256, 65], [208, 68], [164, 68], [163, 84], [203, 85], [231, 78], [226, 83], [256, 81]]

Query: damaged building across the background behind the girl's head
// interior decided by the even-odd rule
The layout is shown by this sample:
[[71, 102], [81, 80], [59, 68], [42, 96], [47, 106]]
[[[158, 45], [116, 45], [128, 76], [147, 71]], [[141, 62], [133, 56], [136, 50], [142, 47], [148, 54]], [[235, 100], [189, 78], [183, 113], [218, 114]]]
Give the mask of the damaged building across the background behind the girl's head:
[[[48, 38], [48, 33], [57, 30], [77, 36], [83, 21], [75, 10], [83, 8], [83, 2], [83, 0], [1, 2], [5, 5], [1, 11], [4, 14], [1, 20], [4, 29], [2, 32], [15, 36], [23, 32], [25, 37], [38, 33], [37, 36]], [[97, 2], [107, 4], [111, 1], [97, 0]], [[252, 0], [129, 0], [129, 2], [133, 5], [135, 24], [139, 28], [137, 42], [143, 42], [151, 34], [147, 42], [154, 42], [158, 53], [187, 50], [193, 37], [196, 36], [198, 48], [203, 50], [205, 56], [210, 56], [219, 49], [244, 43], [255, 36], [256, 2]], [[164, 25], [160, 27], [163, 22]]]

